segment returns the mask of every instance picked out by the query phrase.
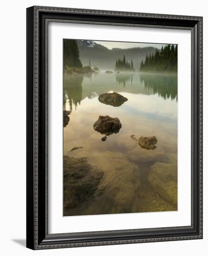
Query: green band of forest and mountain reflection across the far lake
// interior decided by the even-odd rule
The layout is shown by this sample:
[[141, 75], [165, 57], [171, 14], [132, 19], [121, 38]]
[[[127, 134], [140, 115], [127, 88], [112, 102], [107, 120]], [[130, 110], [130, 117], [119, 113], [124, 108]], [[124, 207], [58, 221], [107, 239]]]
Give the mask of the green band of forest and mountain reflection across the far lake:
[[177, 75], [174, 74], [108, 74], [67, 75], [63, 80], [63, 108], [69, 101], [69, 109], [75, 110], [81, 101], [93, 99], [107, 92], [128, 92], [154, 95], [165, 100], [177, 100]]

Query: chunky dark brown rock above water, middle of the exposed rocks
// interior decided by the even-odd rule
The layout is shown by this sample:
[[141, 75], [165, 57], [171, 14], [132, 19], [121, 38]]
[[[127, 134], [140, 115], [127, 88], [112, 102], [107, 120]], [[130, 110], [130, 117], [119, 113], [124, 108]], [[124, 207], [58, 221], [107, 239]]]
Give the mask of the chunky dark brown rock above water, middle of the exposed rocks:
[[113, 118], [109, 115], [100, 115], [98, 120], [94, 123], [93, 128], [101, 134], [111, 135], [119, 132], [121, 123], [117, 117]]

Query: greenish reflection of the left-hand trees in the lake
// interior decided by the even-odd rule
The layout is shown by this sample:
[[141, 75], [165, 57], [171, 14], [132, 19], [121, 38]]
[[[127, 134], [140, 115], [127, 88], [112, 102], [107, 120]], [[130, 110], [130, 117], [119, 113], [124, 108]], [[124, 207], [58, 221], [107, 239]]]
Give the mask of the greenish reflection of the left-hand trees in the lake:
[[69, 100], [70, 111], [72, 111], [73, 104], [75, 109], [78, 104], [80, 105], [82, 100], [82, 81], [83, 75], [71, 75], [63, 80], [63, 108], [65, 108], [67, 99]]

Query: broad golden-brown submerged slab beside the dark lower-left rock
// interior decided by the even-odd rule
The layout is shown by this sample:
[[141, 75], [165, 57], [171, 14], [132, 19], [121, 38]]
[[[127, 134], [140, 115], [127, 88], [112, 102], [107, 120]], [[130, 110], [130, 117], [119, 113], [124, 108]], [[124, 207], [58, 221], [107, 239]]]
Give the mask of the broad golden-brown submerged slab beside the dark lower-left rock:
[[[75, 150], [71, 154], [77, 158], [82, 157], [81, 150]], [[64, 209], [64, 216], [132, 212], [132, 206], [138, 201], [135, 195], [141, 185], [138, 165], [130, 162], [126, 154], [116, 151], [99, 152], [85, 148], [85, 155], [88, 156], [88, 163], [99, 167], [104, 175], [92, 197], [79, 203], [74, 209]]]

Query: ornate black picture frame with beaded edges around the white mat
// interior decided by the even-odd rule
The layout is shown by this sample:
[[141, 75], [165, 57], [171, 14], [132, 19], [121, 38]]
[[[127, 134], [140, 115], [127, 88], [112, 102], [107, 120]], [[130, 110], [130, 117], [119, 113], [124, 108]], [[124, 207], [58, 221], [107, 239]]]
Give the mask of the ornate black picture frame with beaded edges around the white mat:
[[[191, 31], [191, 225], [48, 233], [48, 21]], [[30, 249], [202, 239], [202, 17], [59, 7], [27, 8], [27, 230]]]

